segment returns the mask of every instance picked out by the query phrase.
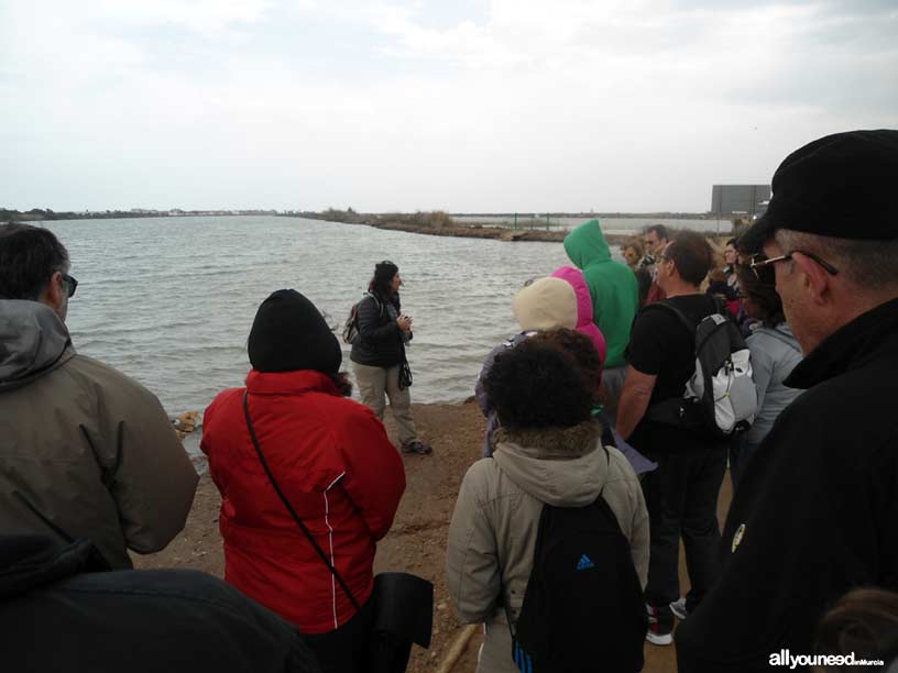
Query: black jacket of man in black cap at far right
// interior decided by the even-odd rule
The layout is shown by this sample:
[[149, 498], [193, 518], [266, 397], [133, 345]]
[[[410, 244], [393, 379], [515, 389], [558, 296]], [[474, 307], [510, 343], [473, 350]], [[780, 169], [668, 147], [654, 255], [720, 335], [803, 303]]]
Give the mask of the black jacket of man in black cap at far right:
[[806, 388], [748, 464], [725, 567], [677, 629], [680, 673], [767, 670], [813, 651], [855, 586], [898, 589], [898, 299], [826, 338], [784, 382]]

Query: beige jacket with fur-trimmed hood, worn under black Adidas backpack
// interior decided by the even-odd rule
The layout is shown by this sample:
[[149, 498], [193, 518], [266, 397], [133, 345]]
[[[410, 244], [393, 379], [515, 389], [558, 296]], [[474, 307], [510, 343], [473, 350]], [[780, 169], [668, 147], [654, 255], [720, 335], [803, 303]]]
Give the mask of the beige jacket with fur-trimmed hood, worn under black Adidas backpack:
[[629, 540], [645, 587], [648, 512], [643, 492], [620, 451], [609, 448], [609, 463], [600, 430], [592, 421], [565, 430], [500, 429], [493, 457], [478, 461], [464, 475], [449, 528], [446, 571], [459, 617], [486, 625], [481, 673], [516, 671], [501, 605], [517, 618], [544, 503], [582, 507], [601, 493]]

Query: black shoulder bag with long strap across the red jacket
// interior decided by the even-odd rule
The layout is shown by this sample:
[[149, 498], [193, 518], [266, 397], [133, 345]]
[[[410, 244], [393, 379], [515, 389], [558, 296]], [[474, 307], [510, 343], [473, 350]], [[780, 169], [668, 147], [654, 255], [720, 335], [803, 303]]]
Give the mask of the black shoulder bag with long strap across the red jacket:
[[[362, 607], [355, 596], [349, 591], [349, 585], [337, 569], [331, 564], [325, 551], [315, 541], [309, 529], [296, 514], [293, 505], [281, 490], [281, 486], [272, 474], [271, 467], [259, 445], [259, 438], [250, 418], [249, 390], [243, 391], [243, 415], [247, 418], [247, 428], [250, 431], [259, 462], [274, 487], [277, 497], [287, 508], [293, 520], [311, 543], [318, 558], [333, 575], [337, 584], [343, 589], [355, 611]], [[373, 624], [371, 627], [371, 658], [369, 673], [403, 673], [408, 665], [408, 655], [412, 643], [423, 648], [430, 647], [430, 635], [434, 626], [434, 585], [426, 580], [409, 573], [379, 573], [374, 577], [374, 588], [371, 593], [373, 607]]]

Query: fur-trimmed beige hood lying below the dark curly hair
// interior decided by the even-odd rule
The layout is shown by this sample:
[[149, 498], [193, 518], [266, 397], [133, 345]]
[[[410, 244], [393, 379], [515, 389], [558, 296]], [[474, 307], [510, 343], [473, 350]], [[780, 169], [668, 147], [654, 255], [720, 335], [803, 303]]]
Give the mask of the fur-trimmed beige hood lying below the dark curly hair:
[[594, 421], [572, 428], [500, 428], [493, 459], [536, 499], [556, 507], [582, 507], [599, 497], [609, 478], [601, 431]]

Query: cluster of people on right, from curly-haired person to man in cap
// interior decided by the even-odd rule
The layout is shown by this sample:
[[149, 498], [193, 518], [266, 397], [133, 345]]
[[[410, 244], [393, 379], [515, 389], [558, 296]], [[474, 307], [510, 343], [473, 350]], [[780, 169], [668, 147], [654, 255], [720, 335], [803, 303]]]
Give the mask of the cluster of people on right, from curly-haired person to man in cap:
[[[664, 646], [676, 636], [680, 671], [766, 670], [784, 651], [898, 655], [898, 435], [887, 411], [898, 364], [898, 229], [887, 196], [896, 178], [895, 131], [801, 147], [777, 170], [766, 216], [727, 242], [724, 293], [708, 291], [713, 252], [697, 233], [651, 228], [649, 255], [624, 250], [627, 268], [598, 221], [571, 232], [565, 247], [606, 347], [598, 397], [601, 365], [578, 364], [573, 338], [558, 335], [576, 328], [566, 308], [574, 297], [551, 278], [521, 290], [523, 331], [481, 373], [488, 457], [464, 477], [447, 553], [459, 615], [486, 625], [481, 671], [521, 666], [510, 652], [519, 653], [515, 622], [537, 572], [539, 506], [595, 498], [629, 544], [646, 638]], [[712, 313], [746, 330], [757, 390], [754, 423], [725, 439], [656, 412], [683, 397], [694, 326]], [[572, 390], [591, 415], [577, 412]], [[721, 533], [727, 463], [735, 495]]]

